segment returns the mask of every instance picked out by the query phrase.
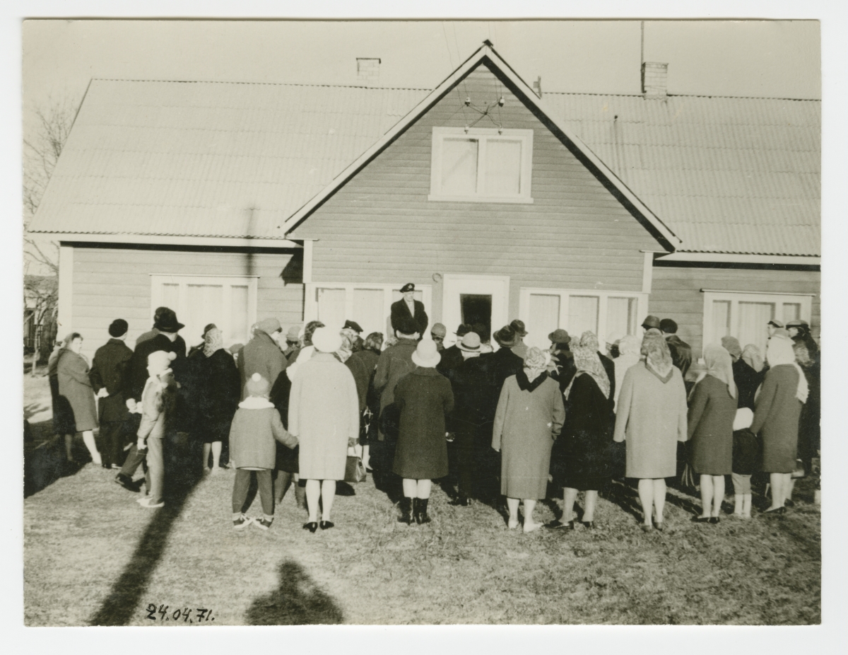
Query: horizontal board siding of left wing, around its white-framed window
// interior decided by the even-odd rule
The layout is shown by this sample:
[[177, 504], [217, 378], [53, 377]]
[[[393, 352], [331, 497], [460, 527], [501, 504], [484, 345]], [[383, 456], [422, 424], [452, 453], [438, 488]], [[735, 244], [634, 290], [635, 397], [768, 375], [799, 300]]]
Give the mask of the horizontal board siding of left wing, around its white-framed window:
[[[127, 344], [150, 329], [150, 274], [258, 275], [256, 319], [276, 317], [283, 328], [303, 321], [304, 286], [283, 283], [280, 274], [293, 255], [186, 252], [108, 248], [74, 249], [72, 327], [91, 356], [109, 339], [109, 323], [130, 324]], [[64, 336], [64, 335], [62, 335]], [[197, 334], [182, 334], [186, 343]]]

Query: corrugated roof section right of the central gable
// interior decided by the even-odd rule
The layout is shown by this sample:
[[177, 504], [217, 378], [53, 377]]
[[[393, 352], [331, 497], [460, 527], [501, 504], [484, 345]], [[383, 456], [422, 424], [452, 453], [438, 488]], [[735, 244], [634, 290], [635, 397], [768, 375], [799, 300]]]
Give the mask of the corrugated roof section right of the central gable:
[[683, 252], [821, 253], [821, 103], [545, 93]]

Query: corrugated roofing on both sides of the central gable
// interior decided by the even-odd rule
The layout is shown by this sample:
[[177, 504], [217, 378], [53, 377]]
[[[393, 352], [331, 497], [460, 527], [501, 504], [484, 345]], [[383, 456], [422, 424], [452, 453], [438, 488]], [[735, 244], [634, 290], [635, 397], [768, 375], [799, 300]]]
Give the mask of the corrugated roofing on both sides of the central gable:
[[[426, 89], [95, 80], [32, 232], [279, 238]], [[690, 252], [819, 255], [821, 103], [545, 93]]]

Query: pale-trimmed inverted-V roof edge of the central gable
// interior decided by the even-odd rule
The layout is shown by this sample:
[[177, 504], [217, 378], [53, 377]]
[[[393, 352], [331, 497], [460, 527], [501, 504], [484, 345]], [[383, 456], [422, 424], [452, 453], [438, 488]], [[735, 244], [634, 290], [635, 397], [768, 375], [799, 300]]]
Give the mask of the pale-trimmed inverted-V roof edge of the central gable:
[[[578, 160], [585, 165], [589, 171], [598, 179], [601, 184], [607, 188], [613, 195], [616, 196], [628, 211], [648, 229], [661, 246], [667, 252], [672, 252], [682, 243], [680, 238], [672, 232], [658, 216], [656, 216], [648, 207], [636, 197], [628, 186], [616, 176], [611, 169], [602, 162], [596, 154], [594, 154], [583, 141], [577, 137], [570, 129], [568, 129], [561, 121], [554, 118], [555, 112], [545, 107], [541, 98], [538, 98], [536, 93], [527, 82], [523, 81], [515, 70], [512, 70], [509, 64], [500, 55], [495, 52], [494, 48], [488, 42], [471, 57], [460, 64], [450, 76], [448, 76], [441, 84], [438, 85], [426, 98], [421, 100], [414, 109], [399, 120], [386, 134], [384, 134], [377, 143], [374, 143], [371, 148], [365, 150], [359, 158], [354, 160], [347, 168], [345, 168], [335, 179], [330, 182], [320, 193], [315, 195], [310, 201], [304, 204], [296, 211], [281, 227], [282, 232], [287, 237], [290, 236], [296, 227], [298, 227], [313, 211], [321, 204], [324, 204], [327, 199], [330, 199], [338, 189], [342, 188], [349, 180], [359, 173], [365, 165], [368, 165], [371, 160], [388, 148], [398, 137], [400, 137], [407, 129], [412, 126], [416, 120], [427, 113], [435, 104], [437, 104], [445, 95], [451, 92], [457, 84], [460, 83], [471, 71], [475, 70], [480, 64], [492, 64], [493, 72], [507, 86], [510, 91], [527, 104], [527, 107], [533, 111], [533, 114], [541, 120], [551, 132], [554, 132], [561, 142], [574, 154]], [[292, 236], [292, 238], [296, 238]]]

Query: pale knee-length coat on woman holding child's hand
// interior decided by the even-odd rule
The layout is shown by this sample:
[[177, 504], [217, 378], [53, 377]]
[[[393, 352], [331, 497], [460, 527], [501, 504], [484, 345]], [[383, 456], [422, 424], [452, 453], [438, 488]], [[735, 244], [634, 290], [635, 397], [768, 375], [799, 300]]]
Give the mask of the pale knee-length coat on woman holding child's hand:
[[288, 431], [300, 442], [302, 479], [344, 479], [348, 440], [360, 435], [360, 400], [354, 376], [332, 353], [316, 352], [298, 367]]

